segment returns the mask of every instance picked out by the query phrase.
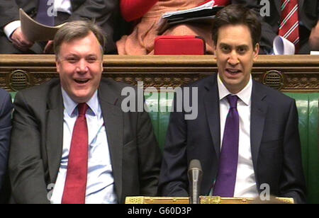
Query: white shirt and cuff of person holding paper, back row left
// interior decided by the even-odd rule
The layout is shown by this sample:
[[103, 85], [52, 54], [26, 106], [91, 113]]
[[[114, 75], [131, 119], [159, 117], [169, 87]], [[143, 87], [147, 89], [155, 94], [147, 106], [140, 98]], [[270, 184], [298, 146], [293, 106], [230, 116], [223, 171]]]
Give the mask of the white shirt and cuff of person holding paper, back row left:
[[[55, 0], [54, 7], [55, 7], [55, 11], [61, 11], [61, 12], [69, 13], [69, 14], [72, 13], [71, 0]], [[6, 37], [9, 38], [10, 40], [11, 34], [19, 27], [21, 27], [20, 21], [13, 21], [5, 25], [4, 33], [6, 34]]]

